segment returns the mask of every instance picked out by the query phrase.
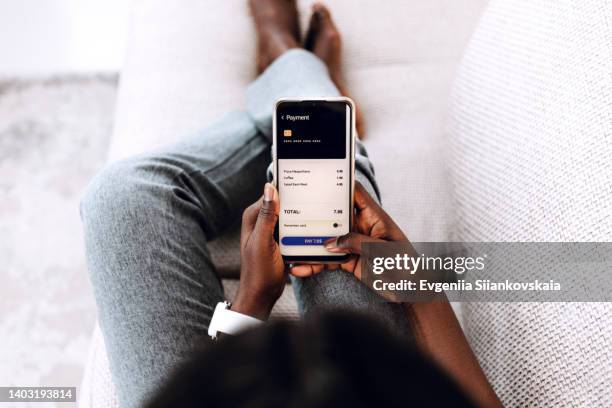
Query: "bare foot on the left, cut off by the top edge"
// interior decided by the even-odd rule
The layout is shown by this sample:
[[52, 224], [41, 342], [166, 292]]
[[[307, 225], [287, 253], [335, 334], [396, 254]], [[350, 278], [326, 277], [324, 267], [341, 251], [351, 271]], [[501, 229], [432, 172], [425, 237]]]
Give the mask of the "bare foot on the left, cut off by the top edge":
[[249, 0], [257, 31], [257, 72], [300, 42], [295, 0]]

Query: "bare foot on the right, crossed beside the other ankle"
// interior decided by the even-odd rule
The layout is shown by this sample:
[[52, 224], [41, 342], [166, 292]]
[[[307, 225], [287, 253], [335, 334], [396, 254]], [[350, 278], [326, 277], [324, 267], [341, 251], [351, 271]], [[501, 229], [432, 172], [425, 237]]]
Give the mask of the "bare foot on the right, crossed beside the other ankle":
[[[331, 18], [331, 13], [321, 3], [315, 3], [312, 8], [312, 17], [310, 18], [310, 24], [308, 25], [308, 32], [306, 33], [306, 40], [304, 41], [304, 48], [311, 51], [317, 57], [319, 57], [329, 70], [329, 76], [334, 82], [340, 93], [344, 96], [349, 96], [346, 90], [344, 77], [342, 76], [341, 69], [341, 50], [342, 41], [340, 38], [340, 32], [334, 24]], [[356, 112], [356, 126], [357, 133], [363, 138], [362, 132], [361, 111], [357, 109]]]

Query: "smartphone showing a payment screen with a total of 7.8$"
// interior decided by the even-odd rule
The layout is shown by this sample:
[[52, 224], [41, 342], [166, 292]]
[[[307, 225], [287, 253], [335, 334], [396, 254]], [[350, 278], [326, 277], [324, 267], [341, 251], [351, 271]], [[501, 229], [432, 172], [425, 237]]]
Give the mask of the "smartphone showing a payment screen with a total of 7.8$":
[[278, 242], [287, 263], [342, 262], [323, 243], [353, 223], [355, 106], [349, 98], [281, 99], [273, 119]]

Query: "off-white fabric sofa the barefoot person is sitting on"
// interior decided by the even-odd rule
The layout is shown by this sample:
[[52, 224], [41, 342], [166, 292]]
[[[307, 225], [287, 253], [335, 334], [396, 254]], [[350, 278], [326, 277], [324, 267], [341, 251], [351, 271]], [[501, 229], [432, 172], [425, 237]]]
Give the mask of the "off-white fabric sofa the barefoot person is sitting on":
[[[413, 241], [611, 240], [605, 2], [328, 3], [383, 203]], [[304, 24], [310, 4], [299, 2]], [[254, 78], [254, 45], [242, 1], [135, 2], [109, 159], [171, 143], [240, 109]], [[578, 164], [558, 166], [559, 158]], [[591, 187], [580, 195], [585, 180]], [[596, 217], [585, 211], [593, 206]], [[232, 237], [212, 246], [220, 269], [235, 272]], [[295, 316], [285, 293], [276, 312]], [[460, 310], [506, 405], [612, 405], [607, 305]], [[116, 406], [98, 329], [80, 399]]]

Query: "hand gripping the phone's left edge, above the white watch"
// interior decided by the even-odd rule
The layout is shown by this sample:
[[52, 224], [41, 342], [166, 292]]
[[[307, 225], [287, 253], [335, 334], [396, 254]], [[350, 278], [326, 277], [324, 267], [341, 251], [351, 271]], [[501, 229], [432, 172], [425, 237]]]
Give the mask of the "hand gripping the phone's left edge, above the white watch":
[[240, 286], [232, 310], [261, 320], [268, 318], [287, 281], [274, 240], [279, 208], [278, 192], [266, 183], [263, 197], [242, 214]]

